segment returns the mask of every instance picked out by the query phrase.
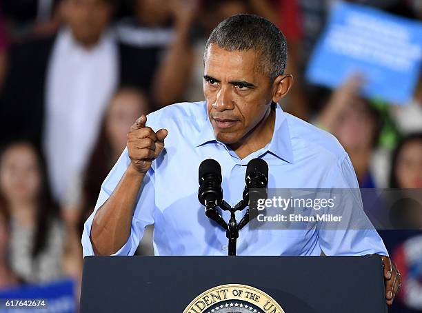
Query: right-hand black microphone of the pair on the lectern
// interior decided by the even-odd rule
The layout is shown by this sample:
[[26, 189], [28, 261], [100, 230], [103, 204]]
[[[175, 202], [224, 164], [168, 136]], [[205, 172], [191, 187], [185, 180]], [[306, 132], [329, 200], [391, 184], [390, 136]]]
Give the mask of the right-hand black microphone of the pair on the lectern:
[[248, 212], [239, 223], [239, 229], [258, 215], [258, 199], [267, 199], [268, 164], [263, 159], [252, 159], [248, 163], [245, 174], [243, 201], [248, 203]]

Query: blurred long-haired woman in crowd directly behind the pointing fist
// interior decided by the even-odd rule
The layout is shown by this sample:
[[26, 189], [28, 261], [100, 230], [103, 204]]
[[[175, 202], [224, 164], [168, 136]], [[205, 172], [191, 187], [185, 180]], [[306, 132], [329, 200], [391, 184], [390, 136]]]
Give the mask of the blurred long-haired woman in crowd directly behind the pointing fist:
[[81, 235], [83, 223], [97, 202], [101, 183], [126, 146], [130, 126], [141, 114], [150, 112], [150, 104], [143, 92], [121, 88], [115, 94], [104, 116], [101, 130], [94, 144], [86, 170], [74, 177], [63, 205], [63, 216], [68, 225], [66, 267], [72, 276], [81, 274]]

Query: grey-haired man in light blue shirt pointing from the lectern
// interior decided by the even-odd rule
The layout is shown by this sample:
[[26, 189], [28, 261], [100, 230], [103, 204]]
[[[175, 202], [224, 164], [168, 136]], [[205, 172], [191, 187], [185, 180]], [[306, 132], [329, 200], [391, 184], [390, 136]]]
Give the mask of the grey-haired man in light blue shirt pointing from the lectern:
[[[277, 104], [292, 85], [292, 76], [283, 74], [286, 54], [283, 34], [261, 17], [241, 14], [221, 22], [205, 47], [205, 101], [170, 105], [132, 126], [128, 147], [86, 221], [83, 254], [132, 255], [145, 226], [154, 224], [157, 255], [227, 255], [225, 230], [211, 223], [197, 198], [205, 159], [220, 163], [223, 196], [232, 206], [242, 197], [246, 165], [254, 158], [268, 163], [268, 188], [359, 188], [339, 142]], [[362, 215], [360, 205], [348, 217]], [[394, 298], [400, 276], [374, 229], [247, 226], [237, 242], [239, 255], [321, 252], [383, 255], [385, 296], [388, 303]]]

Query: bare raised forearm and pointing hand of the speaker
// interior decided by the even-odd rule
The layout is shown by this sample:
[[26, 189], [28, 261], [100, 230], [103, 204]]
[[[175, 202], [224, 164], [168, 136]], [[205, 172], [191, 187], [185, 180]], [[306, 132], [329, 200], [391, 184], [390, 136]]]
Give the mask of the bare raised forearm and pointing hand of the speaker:
[[110, 198], [97, 210], [92, 222], [90, 241], [94, 253], [110, 255], [128, 241], [133, 211], [146, 172], [164, 148], [167, 130], [154, 132], [141, 116], [128, 133], [130, 164]]

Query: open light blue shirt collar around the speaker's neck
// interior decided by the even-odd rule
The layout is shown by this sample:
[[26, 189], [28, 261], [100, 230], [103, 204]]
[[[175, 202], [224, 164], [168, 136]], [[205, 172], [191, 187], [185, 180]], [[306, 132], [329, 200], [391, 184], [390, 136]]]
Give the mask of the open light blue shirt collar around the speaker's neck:
[[[263, 148], [263, 153], [261, 153], [260, 155], [268, 151], [277, 156], [279, 159], [282, 159], [288, 163], [294, 163], [290, 131], [288, 127], [288, 121], [285, 118], [285, 114], [286, 113], [283, 112], [279, 103], [277, 103], [274, 133], [272, 135], [270, 143], [268, 143], [268, 145]], [[199, 147], [207, 143], [217, 142], [218, 141], [214, 135], [214, 129], [212, 128], [212, 124], [208, 119], [208, 112], [206, 110], [205, 104], [205, 121], [197, 139], [194, 140], [194, 146]]]

